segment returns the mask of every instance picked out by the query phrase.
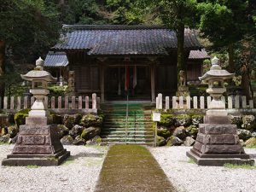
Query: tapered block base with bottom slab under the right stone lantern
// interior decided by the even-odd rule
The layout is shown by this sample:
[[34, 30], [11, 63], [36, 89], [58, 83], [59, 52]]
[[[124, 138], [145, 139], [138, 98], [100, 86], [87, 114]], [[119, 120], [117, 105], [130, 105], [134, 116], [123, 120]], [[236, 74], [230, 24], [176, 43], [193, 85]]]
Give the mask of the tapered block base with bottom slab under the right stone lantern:
[[236, 125], [199, 125], [194, 147], [187, 156], [199, 166], [223, 166], [225, 163], [253, 165], [236, 133]]

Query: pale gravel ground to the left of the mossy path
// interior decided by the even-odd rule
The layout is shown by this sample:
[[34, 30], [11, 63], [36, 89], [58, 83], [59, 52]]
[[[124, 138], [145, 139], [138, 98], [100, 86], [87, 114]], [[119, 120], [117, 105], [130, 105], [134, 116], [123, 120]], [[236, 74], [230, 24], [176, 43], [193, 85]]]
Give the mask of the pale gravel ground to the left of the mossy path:
[[[0, 145], [0, 161], [14, 145]], [[64, 146], [72, 157], [61, 166], [0, 166], [0, 191], [93, 191], [107, 147]]]

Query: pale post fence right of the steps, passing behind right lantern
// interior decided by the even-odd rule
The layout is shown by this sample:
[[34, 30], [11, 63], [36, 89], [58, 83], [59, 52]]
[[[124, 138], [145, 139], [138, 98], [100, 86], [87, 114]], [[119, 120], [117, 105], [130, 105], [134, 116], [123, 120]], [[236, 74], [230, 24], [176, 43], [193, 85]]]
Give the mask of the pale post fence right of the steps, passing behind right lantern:
[[[225, 98], [221, 97], [224, 101], [226, 108], [228, 109], [245, 109], [245, 108], [253, 108], [253, 100], [249, 100], [247, 102], [246, 96], [228, 96]], [[156, 97], [156, 109], [206, 109], [209, 108], [209, 104], [212, 101], [211, 96], [172, 96], [172, 101], [170, 101], [170, 97], [166, 96], [165, 106], [163, 106], [163, 98], [162, 94], [158, 94]]]

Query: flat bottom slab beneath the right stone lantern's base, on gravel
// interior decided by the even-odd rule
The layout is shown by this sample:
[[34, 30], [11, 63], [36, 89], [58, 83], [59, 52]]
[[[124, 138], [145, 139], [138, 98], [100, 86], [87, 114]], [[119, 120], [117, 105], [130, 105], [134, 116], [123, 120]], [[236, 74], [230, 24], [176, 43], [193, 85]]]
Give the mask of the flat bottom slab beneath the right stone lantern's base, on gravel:
[[198, 166], [224, 166], [224, 164], [236, 164], [236, 165], [254, 165], [253, 159], [241, 159], [241, 158], [201, 158], [194, 154], [191, 151], [187, 152], [187, 156], [192, 160], [195, 160], [195, 163]]

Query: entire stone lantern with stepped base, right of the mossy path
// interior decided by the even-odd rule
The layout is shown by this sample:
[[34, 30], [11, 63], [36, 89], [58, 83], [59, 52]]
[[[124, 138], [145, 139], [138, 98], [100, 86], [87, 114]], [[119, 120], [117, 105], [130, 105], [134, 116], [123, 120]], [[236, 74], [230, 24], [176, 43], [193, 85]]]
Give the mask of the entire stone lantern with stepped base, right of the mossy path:
[[226, 91], [224, 80], [233, 76], [233, 73], [223, 70], [218, 58], [214, 57], [210, 71], [199, 78], [208, 84], [207, 93], [212, 96], [212, 101], [204, 117], [204, 124], [199, 125], [195, 144], [187, 156], [200, 166], [254, 164], [254, 160], [241, 147], [236, 125], [231, 125], [225, 103], [221, 99]]

